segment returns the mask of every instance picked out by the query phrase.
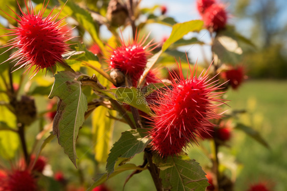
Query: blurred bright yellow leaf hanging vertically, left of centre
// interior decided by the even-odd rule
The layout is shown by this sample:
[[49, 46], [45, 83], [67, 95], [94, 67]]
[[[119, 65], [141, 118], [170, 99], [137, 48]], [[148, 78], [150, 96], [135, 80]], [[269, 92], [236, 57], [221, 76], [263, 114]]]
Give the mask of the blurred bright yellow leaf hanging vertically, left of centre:
[[[109, 109], [104, 106], [99, 106], [92, 114], [92, 135], [95, 142], [94, 152], [95, 160], [99, 163], [107, 161], [108, 154], [111, 148], [111, 137], [113, 128], [113, 120], [106, 115]], [[112, 114], [116, 111], [112, 110]]]

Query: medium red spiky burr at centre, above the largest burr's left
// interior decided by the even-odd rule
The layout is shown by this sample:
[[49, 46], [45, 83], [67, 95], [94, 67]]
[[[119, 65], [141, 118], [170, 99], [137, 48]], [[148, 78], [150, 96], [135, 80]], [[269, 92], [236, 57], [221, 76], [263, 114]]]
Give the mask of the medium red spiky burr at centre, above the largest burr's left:
[[140, 40], [137, 35], [135, 36], [134, 40], [127, 43], [121, 39], [121, 46], [116, 49], [111, 48], [112, 52], [109, 58], [109, 67], [118, 69], [123, 74], [130, 76], [133, 82], [136, 82], [143, 73], [148, 57], [156, 47], [148, 50], [149, 47], [155, 45], [155, 43], [152, 44], [152, 41], [144, 45], [149, 35], [146, 38], [143, 36]]

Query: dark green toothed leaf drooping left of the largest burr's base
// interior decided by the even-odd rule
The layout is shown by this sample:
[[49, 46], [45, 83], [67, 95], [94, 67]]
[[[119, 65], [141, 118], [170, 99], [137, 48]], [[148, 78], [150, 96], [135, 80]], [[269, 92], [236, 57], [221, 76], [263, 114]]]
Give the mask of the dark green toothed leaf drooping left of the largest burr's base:
[[123, 132], [121, 138], [115, 142], [110, 151], [106, 165], [108, 176], [114, 171], [118, 158], [133, 157], [145, 150], [150, 141], [148, 137], [142, 137], [140, 133], [134, 129]]

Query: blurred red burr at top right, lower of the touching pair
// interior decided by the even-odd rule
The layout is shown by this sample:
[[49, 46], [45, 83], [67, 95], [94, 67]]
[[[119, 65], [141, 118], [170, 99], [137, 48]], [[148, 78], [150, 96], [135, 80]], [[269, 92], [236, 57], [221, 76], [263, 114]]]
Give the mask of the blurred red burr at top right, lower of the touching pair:
[[210, 31], [224, 29], [227, 22], [227, 13], [222, 4], [212, 4], [203, 14], [204, 25]]

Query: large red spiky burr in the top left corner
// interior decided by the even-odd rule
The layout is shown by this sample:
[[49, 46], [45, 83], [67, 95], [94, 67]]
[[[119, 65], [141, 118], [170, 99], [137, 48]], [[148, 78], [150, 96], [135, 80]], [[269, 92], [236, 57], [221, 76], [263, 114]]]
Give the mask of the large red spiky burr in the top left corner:
[[18, 18], [13, 18], [6, 13], [18, 22], [18, 27], [7, 29], [12, 32], [4, 35], [16, 36], [4, 46], [18, 49], [8, 60], [18, 60], [15, 66], [17, 68], [28, 67], [27, 70], [29, 71], [32, 66], [35, 66], [35, 74], [40, 69], [52, 68], [56, 62], [63, 63], [62, 54], [68, 50], [68, 44], [65, 42], [71, 39], [70, 33], [62, 30], [63, 19], [56, 21], [60, 12], [52, 16], [55, 7], [47, 17], [43, 18], [48, 3], [46, 6], [43, 4], [38, 14], [33, 9], [31, 0], [29, 1], [30, 9], [25, 0], [27, 13], [21, 10], [19, 4], [21, 15], [16, 14], [11, 9]]

